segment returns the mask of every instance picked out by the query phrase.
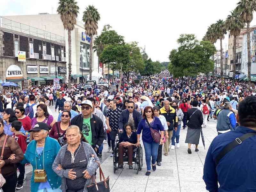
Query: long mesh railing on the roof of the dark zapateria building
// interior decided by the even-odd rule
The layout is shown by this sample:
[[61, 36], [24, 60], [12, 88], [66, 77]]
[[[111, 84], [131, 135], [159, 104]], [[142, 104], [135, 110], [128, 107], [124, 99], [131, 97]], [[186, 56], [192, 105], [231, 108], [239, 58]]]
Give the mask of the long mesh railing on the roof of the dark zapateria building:
[[63, 36], [59, 36], [39, 28], [31, 27], [29, 25], [25, 25], [20, 22], [9, 20], [1, 16], [0, 16], [0, 27], [65, 44], [65, 38]]

